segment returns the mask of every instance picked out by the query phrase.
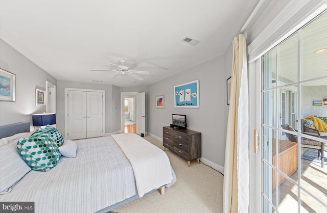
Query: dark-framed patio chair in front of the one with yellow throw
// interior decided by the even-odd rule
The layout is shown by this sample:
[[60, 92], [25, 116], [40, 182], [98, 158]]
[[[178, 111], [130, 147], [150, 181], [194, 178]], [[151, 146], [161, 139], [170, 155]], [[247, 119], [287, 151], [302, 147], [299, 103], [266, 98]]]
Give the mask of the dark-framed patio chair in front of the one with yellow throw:
[[[290, 130], [290, 131], [296, 131], [294, 130], [290, 125], [288, 124], [283, 124], [282, 125], [283, 129]], [[288, 138], [289, 141], [297, 142], [297, 136], [293, 134], [289, 134], [288, 132], [285, 132], [286, 137]], [[319, 141], [311, 140], [308, 138], [301, 137], [301, 147], [303, 148], [310, 148], [310, 149], [317, 149], [318, 150], [318, 159], [321, 153], [321, 167], [323, 168], [324, 165], [324, 156], [323, 156], [323, 150], [324, 150], [324, 143], [321, 143]]]

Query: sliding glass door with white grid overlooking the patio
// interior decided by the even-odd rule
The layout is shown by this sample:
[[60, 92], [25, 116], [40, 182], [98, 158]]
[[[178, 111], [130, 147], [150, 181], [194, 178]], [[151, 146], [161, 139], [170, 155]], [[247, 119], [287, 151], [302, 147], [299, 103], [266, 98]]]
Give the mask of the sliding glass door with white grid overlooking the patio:
[[259, 60], [263, 212], [327, 212], [325, 48], [327, 12]]

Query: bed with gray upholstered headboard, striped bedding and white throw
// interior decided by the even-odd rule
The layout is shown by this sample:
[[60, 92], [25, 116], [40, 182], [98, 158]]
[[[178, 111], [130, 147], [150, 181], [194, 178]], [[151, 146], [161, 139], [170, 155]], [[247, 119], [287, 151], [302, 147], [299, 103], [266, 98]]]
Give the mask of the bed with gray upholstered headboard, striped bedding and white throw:
[[[0, 138], [11, 140], [0, 147], [0, 169], [5, 168], [9, 155], [15, 155], [18, 161], [17, 138], [21, 137], [19, 132], [29, 128], [29, 123], [0, 127]], [[16, 138], [10, 138], [15, 134]], [[27, 132], [25, 137], [30, 134]], [[76, 157], [61, 156], [57, 166], [48, 172], [28, 171], [0, 195], [0, 202], [35, 202], [35, 212], [107, 212], [157, 189], [163, 194], [165, 187], [176, 181], [168, 157], [169, 174], [167, 162], [155, 158], [162, 153], [166, 158], [166, 153], [135, 134], [75, 143]], [[149, 150], [154, 153], [145, 154]], [[158, 170], [157, 174], [154, 170]]]

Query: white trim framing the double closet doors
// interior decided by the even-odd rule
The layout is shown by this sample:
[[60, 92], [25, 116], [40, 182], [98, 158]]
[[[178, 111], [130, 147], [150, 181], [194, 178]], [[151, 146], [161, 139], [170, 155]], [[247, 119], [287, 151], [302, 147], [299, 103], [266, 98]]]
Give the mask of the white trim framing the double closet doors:
[[102, 132], [102, 136], [105, 135], [106, 131], [106, 108], [105, 108], [105, 102], [106, 102], [106, 93], [105, 90], [90, 90], [90, 89], [77, 89], [77, 88], [65, 88], [65, 138], [68, 138], [67, 133], [68, 133], [68, 118], [67, 118], [67, 113], [68, 113], [68, 91], [69, 90], [74, 90], [74, 91], [85, 91], [85, 92], [102, 92], [103, 95], [103, 101], [102, 101], [102, 109], [103, 109], [103, 129], [104, 131]]

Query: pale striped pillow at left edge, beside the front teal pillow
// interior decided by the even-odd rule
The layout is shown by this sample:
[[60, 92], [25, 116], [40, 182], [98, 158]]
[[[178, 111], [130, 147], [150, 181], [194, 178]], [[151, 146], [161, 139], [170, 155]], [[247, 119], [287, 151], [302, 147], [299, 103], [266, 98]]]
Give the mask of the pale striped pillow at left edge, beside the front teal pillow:
[[18, 154], [16, 143], [8, 143], [0, 148], [0, 165], [0, 195], [9, 193], [11, 188], [31, 171]]

